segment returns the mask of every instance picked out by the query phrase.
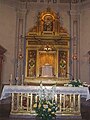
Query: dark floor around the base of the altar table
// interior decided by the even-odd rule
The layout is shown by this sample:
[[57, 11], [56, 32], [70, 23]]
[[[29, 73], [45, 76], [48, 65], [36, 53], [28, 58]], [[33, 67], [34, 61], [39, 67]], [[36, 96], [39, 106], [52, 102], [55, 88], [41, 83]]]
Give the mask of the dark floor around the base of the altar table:
[[[56, 120], [90, 120], [90, 101], [81, 101], [82, 117], [77, 116], [58, 116]], [[36, 120], [35, 116], [11, 116], [10, 104], [0, 103], [0, 120]]]

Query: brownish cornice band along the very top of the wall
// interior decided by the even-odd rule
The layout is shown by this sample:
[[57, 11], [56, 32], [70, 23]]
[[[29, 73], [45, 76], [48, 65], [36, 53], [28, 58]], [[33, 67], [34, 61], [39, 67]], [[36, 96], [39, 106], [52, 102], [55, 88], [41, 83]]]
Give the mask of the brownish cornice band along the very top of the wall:
[[47, 0], [43, 0], [43, 2], [41, 2], [41, 0], [0, 0], [0, 3], [4, 3], [4, 4], [7, 4], [9, 6], [12, 6], [12, 7], [16, 7], [16, 6], [22, 6], [22, 7], [26, 7], [26, 4], [29, 6], [30, 4], [64, 4], [64, 3], [71, 3], [72, 4], [78, 4], [78, 3], [87, 3], [89, 2], [89, 0], [56, 0], [53, 1], [53, 0], [50, 0], [49, 2], [47, 2]]

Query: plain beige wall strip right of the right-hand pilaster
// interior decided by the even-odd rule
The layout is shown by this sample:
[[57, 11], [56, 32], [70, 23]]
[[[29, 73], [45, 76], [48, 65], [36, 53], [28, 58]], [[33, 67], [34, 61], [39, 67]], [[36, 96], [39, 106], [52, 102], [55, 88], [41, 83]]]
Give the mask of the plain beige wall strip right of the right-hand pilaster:
[[[90, 4], [89, 4], [90, 6]], [[90, 8], [90, 7], [89, 7]], [[80, 34], [80, 53], [81, 53], [81, 80], [90, 84], [90, 64], [88, 51], [90, 51], [90, 9], [88, 7], [82, 9], [81, 34]]]

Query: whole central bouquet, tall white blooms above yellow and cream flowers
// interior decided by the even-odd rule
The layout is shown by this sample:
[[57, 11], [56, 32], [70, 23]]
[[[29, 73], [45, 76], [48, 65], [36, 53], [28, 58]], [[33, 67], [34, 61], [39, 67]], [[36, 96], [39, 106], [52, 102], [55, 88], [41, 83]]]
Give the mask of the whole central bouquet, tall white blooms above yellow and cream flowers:
[[39, 101], [34, 104], [37, 117], [41, 120], [52, 120], [56, 118], [57, 104], [54, 100], [55, 87], [50, 90], [40, 84]]

